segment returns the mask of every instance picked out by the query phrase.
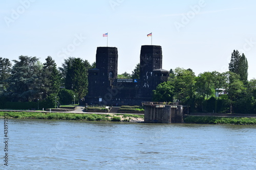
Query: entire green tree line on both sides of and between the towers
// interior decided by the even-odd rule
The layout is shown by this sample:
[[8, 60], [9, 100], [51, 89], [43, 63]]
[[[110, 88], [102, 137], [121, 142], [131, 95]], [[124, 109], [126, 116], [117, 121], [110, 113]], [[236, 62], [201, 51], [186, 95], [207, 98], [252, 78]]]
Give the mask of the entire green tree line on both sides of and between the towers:
[[[88, 69], [95, 68], [95, 62], [74, 57], [65, 59], [58, 68], [50, 56], [45, 63], [28, 56], [13, 62], [0, 57], [0, 107], [5, 102], [38, 100], [45, 108], [54, 107], [55, 100], [71, 104], [74, 96], [77, 101], [88, 93]], [[139, 66], [132, 74], [124, 72], [118, 78], [138, 79]], [[153, 100], [179, 101], [190, 111], [256, 113], [256, 80], [247, 79], [247, 59], [234, 50], [227, 72], [206, 71], [196, 76], [190, 68], [170, 69], [168, 81], [153, 90]]]

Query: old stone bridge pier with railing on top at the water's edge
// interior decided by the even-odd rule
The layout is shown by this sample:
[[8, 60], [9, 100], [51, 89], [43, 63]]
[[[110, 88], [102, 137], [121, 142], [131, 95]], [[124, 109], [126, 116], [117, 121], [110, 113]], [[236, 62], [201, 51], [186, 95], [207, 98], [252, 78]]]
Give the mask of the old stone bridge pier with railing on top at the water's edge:
[[177, 103], [142, 102], [145, 123], [183, 123], [183, 106]]

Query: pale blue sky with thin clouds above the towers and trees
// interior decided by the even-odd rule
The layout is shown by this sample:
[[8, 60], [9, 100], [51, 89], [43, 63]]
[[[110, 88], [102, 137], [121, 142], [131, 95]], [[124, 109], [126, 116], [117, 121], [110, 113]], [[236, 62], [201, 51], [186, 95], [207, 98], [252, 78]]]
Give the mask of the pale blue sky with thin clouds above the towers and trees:
[[[0, 57], [96, 61], [98, 46], [118, 48], [118, 74], [132, 73], [141, 45], [161, 45], [162, 68], [228, 71], [233, 50], [256, 78], [256, 1], [1, 0]], [[108, 33], [109, 37], [103, 37]]]

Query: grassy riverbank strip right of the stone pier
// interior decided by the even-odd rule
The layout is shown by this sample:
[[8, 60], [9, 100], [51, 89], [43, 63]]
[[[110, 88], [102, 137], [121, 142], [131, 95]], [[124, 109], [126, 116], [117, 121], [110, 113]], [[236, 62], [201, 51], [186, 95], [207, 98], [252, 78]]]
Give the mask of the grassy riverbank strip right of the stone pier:
[[187, 124], [226, 124], [226, 125], [256, 125], [253, 117], [217, 117], [217, 116], [186, 116]]

